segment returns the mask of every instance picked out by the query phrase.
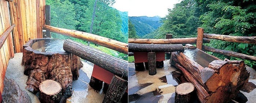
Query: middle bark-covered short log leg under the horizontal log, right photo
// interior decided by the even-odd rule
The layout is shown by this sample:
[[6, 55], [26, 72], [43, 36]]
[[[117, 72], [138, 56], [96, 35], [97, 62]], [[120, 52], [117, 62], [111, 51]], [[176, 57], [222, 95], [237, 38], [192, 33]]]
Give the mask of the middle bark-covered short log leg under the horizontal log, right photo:
[[148, 52], [147, 57], [148, 57], [148, 74], [149, 75], [157, 74], [155, 52]]

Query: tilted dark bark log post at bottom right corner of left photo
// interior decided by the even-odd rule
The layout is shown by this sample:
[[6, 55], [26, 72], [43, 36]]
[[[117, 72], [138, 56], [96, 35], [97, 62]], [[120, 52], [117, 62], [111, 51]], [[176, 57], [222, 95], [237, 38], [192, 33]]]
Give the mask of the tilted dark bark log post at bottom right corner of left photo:
[[113, 76], [102, 103], [118, 103], [127, 89], [128, 82], [116, 75]]

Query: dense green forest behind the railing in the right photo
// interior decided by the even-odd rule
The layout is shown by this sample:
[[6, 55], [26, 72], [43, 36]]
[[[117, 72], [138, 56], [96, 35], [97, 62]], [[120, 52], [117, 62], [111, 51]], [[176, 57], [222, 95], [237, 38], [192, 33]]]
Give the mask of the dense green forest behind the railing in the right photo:
[[[256, 36], [256, 2], [253, 0], [182, 0], [168, 11], [169, 14], [161, 20], [163, 24], [146, 38], [165, 38], [166, 33], [173, 34], [173, 38], [196, 37], [198, 27], [204, 28], [204, 33]], [[253, 44], [211, 40], [204, 45], [256, 56], [256, 45]], [[220, 59], [242, 60], [208, 53]], [[255, 61], [244, 61], [256, 68]]]

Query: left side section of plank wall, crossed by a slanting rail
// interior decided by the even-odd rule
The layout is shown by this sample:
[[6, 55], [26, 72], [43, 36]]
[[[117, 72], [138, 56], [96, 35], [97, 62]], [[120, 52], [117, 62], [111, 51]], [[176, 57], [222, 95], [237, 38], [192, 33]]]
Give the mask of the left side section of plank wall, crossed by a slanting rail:
[[[10, 12], [8, 1], [0, 0], [0, 35], [2, 35], [10, 26]], [[0, 92], [3, 92], [5, 71], [9, 59], [14, 57], [14, 45], [12, 42], [12, 35], [10, 34], [5, 40], [4, 45], [0, 48]]]

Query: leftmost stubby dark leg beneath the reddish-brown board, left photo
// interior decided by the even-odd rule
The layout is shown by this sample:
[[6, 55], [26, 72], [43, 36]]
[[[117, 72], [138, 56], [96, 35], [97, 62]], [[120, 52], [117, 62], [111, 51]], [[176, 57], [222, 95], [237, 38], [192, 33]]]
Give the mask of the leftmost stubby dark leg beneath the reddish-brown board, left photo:
[[97, 78], [91, 77], [91, 81], [89, 83], [89, 85], [96, 91], [100, 91], [102, 88], [102, 81], [100, 81]]

